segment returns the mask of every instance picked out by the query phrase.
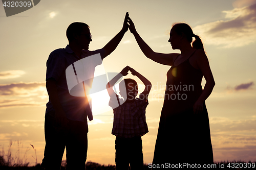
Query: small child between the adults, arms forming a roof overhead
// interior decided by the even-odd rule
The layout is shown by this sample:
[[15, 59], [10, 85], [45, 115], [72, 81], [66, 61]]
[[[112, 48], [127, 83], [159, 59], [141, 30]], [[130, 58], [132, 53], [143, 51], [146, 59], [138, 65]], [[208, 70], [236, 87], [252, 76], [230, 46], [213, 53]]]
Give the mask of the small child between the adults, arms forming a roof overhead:
[[[120, 95], [124, 98], [119, 99], [114, 92], [113, 86], [122, 77], [128, 74], [137, 76], [145, 85], [144, 91], [138, 94], [138, 84], [133, 79], [124, 79], [119, 84]], [[125, 84], [125, 89], [122, 84]], [[143, 77], [135, 69], [126, 66], [114, 77], [107, 85], [110, 95], [109, 105], [114, 111], [114, 123], [112, 134], [116, 136], [116, 169], [144, 169], [141, 136], [148, 132], [145, 109], [148, 105], [147, 96], [151, 90], [151, 82]], [[117, 101], [117, 102], [116, 102]], [[118, 104], [117, 104], [118, 103]]]

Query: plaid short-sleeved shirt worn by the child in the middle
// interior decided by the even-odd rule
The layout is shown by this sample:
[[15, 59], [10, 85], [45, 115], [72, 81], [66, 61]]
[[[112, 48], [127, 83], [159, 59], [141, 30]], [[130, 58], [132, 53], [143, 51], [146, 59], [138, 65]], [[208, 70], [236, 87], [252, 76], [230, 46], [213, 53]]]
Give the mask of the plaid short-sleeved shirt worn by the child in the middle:
[[[111, 98], [109, 105], [114, 108], [114, 123], [112, 134], [118, 137], [132, 138], [143, 136], [148, 132], [146, 124], [146, 106], [148, 101], [142, 98], [136, 98], [134, 102], [119, 102], [117, 107], [117, 98]], [[120, 103], [123, 103], [120, 105]]]

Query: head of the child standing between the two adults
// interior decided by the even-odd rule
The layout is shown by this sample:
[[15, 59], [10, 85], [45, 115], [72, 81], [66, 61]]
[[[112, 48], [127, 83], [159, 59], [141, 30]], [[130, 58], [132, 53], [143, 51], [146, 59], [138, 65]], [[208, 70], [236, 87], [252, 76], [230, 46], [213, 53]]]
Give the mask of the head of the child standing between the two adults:
[[[123, 84], [125, 84], [126, 90], [122, 88], [124, 87]], [[119, 93], [123, 98], [125, 98], [126, 95], [127, 101], [133, 101], [138, 94], [138, 84], [133, 79], [124, 79], [119, 83], [119, 90]]]

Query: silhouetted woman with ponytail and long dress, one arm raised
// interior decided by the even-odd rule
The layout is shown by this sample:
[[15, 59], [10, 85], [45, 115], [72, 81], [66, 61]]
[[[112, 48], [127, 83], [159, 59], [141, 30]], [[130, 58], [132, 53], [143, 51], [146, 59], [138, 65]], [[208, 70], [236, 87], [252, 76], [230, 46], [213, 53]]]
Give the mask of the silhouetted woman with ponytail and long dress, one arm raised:
[[[147, 58], [170, 65], [167, 72], [153, 165], [165, 163], [213, 163], [210, 128], [205, 100], [215, 86], [199, 36], [186, 23], [170, 30], [168, 42], [181, 54], [154, 52], [137, 33], [129, 18], [129, 29]], [[191, 42], [195, 41], [191, 46]], [[201, 81], [206, 84], [202, 89]]]

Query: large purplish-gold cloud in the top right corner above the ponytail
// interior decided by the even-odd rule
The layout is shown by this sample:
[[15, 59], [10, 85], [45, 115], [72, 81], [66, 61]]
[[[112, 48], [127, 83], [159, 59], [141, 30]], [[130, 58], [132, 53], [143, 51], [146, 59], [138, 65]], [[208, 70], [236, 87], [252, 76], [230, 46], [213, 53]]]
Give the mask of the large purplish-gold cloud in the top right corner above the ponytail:
[[206, 44], [222, 48], [248, 45], [256, 40], [256, 4], [222, 11], [226, 20], [205, 23], [194, 28], [195, 34], [205, 37]]

